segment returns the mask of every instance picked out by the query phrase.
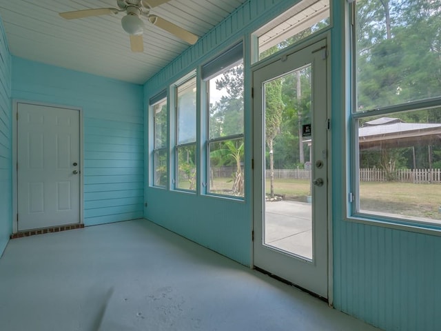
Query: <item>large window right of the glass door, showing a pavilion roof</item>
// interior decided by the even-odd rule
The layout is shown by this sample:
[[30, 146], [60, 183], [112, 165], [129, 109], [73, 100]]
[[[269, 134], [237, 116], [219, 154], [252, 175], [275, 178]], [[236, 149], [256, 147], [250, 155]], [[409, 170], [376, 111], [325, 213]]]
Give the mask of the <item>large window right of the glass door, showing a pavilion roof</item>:
[[441, 2], [355, 6], [353, 214], [441, 225]]

